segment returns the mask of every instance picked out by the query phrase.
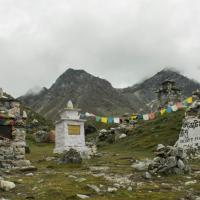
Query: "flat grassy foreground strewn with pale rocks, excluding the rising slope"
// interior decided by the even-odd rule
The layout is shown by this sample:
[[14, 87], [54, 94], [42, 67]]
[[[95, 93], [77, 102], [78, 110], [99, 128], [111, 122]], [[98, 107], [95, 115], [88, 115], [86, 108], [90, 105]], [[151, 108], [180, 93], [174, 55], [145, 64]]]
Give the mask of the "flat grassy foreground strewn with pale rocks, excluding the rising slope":
[[[1, 176], [16, 187], [1, 191], [5, 199], [198, 199], [200, 196], [200, 160], [191, 162], [188, 175], [146, 177], [131, 165], [140, 153], [107, 152], [81, 165], [57, 164], [53, 146], [31, 144], [29, 155], [37, 171], [5, 171]], [[45, 152], [45, 155], [44, 155]], [[143, 154], [143, 156], [145, 156]], [[148, 156], [148, 155], [147, 155]]]

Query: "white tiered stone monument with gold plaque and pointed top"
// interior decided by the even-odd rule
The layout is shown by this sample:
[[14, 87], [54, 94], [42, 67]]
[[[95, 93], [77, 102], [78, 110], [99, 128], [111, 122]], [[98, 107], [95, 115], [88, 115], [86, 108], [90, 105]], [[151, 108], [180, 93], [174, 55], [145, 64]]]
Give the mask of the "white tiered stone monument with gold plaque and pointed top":
[[60, 114], [60, 120], [56, 122], [54, 153], [62, 153], [73, 148], [79, 152], [87, 151], [85, 145], [85, 120], [80, 119], [80, 109], [75, 109], [71, 101], [67, 108]]

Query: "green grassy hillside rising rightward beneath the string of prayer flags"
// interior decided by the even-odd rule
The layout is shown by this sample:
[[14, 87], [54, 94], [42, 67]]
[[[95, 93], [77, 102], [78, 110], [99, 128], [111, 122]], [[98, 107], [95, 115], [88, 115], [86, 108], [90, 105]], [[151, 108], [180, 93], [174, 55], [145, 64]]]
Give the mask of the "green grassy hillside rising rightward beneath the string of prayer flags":
[[[152, 156], [158, 144], [173, 146], [179, 136], [184, 119], [184, 110], [165, 114], [155, 120], [141, 121], [127, 138], [114, 144], [104, 143], [102, 149], [126, 154], [134, 152], [136, 157]], [[100, 144], [101, 146], [102, 144]]]

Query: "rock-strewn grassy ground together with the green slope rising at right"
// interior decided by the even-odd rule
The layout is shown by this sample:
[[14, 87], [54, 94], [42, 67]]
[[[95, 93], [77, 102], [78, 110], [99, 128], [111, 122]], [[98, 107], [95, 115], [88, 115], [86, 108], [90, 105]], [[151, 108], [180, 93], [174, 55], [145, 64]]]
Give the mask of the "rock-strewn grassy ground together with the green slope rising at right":
[[27, 159], [37, 170], [1, 171], [1, 178], [13, 182], [15, 187], [10, 191], [1, 190], [0, 197], [11, 200], [198, 200], [200, 159], [189, 161], [190, 174], [149, 176], [146, 169], [133, 168], [137, 160], [153, 159], [153, 150], [161, 141], [165, 145], [175, 142], [174, 134], [178, 135], [179, 130], [174, 120], [180, 123], [182, 115], [179, 112], [176, 118], [172, 115], [147, 122], [117, 143], [100, 143], [97, 156], [81, 164], [59, 164], [53, 155], [53, 144], [28, 139], [31, 153]]

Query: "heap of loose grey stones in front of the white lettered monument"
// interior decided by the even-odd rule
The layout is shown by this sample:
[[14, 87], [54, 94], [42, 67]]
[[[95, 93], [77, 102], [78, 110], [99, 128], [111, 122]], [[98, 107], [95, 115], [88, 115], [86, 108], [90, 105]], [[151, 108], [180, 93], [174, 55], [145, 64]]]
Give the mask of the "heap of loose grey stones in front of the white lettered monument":
[[190, 172], [190, 167], [187, 163], [187, 154], [180, 147], [159, 144], [155, 155], [156, 157], [148, 167], [148, 171], [151, 174], [162, 173], [169, 175]]

